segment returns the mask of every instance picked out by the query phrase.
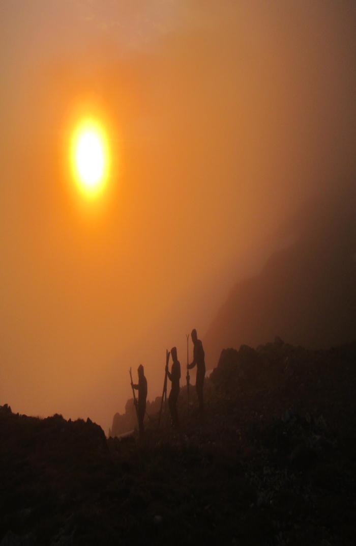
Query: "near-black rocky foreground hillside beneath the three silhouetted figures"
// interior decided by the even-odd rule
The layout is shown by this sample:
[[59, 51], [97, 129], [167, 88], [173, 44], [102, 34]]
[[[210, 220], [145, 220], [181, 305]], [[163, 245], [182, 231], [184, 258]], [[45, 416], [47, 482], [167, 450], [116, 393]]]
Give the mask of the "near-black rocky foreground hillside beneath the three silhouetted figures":
[[[221, 353], [144, 443], [0, 409], [0, 544], [355, 543], [356, 343]], [[192, 391], [194, 389], [191, 389]]]

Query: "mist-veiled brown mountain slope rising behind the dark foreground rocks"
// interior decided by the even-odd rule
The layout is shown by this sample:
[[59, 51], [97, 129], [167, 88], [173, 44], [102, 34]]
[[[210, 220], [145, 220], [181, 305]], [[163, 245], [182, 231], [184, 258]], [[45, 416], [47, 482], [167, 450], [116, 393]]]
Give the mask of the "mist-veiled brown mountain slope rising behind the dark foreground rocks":
[[356, 219], [352, 185], [310, 203], [294, 219], [300, 234], [259, 275], [238, 282], [204, 336], [215, 365], [221, 347], [255, 346], [276, 335], [323, 348], [356, 331]]

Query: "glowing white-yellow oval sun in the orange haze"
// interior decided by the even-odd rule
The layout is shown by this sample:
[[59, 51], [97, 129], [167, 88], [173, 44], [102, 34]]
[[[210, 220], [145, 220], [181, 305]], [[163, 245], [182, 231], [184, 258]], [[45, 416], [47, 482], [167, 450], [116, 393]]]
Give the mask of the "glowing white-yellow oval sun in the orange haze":
[[110, 167], [108, 139], [101, 124], [82, 120], [73, 132], [71, 163], [77, 185], [87, 197], [104, 189]]

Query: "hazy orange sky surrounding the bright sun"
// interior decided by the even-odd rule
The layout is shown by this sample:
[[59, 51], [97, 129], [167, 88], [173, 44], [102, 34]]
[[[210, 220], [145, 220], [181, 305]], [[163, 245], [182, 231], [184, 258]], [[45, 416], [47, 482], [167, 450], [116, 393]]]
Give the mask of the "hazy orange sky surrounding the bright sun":
[[[185, 334], [355, 173], [355, 15], [352, 0], [1, 2], [0, 403], [107, 431], [130, 366], [160, 394], [166, 348], [185, 364]], [[87, 113], [113, 157], [90, 203], [69, 170]]]

